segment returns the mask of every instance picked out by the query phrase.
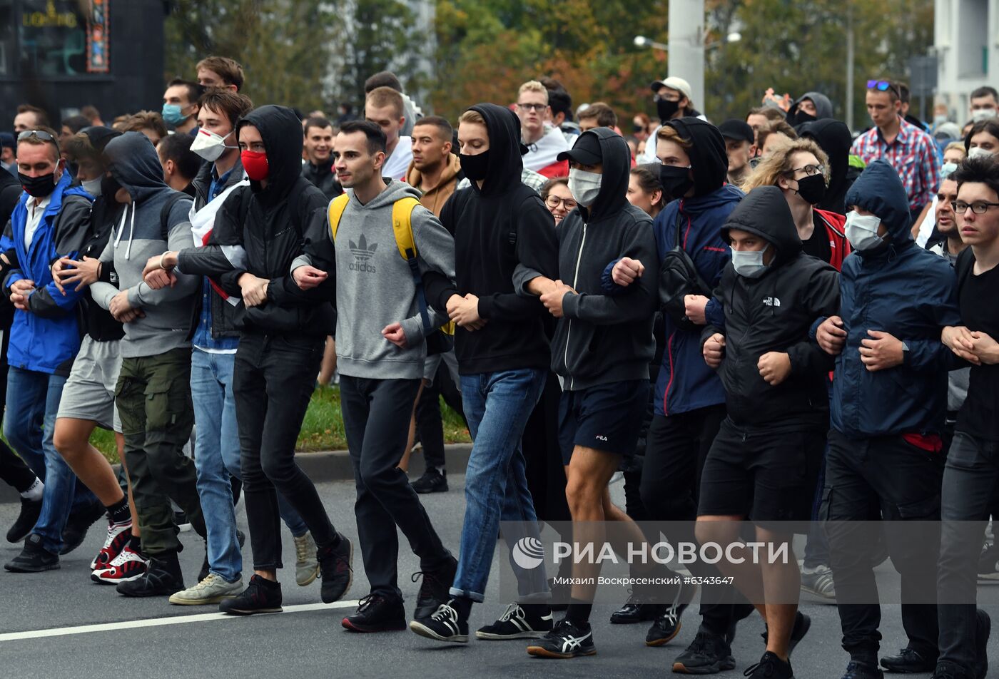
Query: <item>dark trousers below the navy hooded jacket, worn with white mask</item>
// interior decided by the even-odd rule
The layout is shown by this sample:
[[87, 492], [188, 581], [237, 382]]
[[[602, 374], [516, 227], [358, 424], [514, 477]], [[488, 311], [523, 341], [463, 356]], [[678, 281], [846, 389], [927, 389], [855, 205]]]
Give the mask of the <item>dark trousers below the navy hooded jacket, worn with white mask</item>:
[[[838, 604], [843, 649], [851, 658], [871, 663], [880, 648], [881, 606], [871, 566], [870, 545], [877, 526], [872, 507], [894, 521], [885, 531], [892, 565], [902, 576], [902, 626], [908, 647], [924, 658], [937, 657], [937, 610], [926, 600], [936, 592], [937, 536], [926, 534], [925, 521], [940, 518], [943, 455], [908, 443], [902, 436], [850, 439], [829, 431], [821, 519], [829, 539], [830, 566]], [[907, 531], [902, 521], [920, 521]], [[977, 559], [975, 560], [977, 563]], [[861, 603], [866, 602], [866, 603]]]

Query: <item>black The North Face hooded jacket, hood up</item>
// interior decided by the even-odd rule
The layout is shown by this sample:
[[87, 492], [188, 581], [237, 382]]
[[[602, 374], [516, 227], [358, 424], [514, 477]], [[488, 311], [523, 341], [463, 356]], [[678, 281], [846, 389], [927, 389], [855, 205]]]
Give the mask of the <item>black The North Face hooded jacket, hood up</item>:
[[[832, 357], [808, 339], [815, 319], [839, 311], [839, 274], [801, 252], [787, 199], [773, 186], [749, 192], [722, 227], [755, 234], [772, 244], [774, 258], [757, 279], [739, 276], [729, 264], [714, 298], [724, 305], [725, 329], [708, 326], [702, 341], [725, 336], [718, 373], [728, 416], [737, 424], [823, 426], [829, 419], [826, 374]], [[776, 386], [759, 374], [767, 351], [786, 352], [791, 372]]]

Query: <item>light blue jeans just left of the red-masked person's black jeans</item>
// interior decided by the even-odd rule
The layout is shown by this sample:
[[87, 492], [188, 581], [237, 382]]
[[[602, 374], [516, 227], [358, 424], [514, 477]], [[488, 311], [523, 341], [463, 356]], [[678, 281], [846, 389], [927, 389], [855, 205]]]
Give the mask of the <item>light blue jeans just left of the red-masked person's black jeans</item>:
[[[230, 475], [240, 473], [240, 437], [233, 396], [235, 353], [191, 352], [191, 399], [197, 431], [194, 464], [198, 470], [198, 497], [208, 531], [211, 572], [233, 582], [243, 571], [236, 537], [236, 510]], [[296, 537], [308, 528], [298, 512], [279, 493], [281, 517]]]

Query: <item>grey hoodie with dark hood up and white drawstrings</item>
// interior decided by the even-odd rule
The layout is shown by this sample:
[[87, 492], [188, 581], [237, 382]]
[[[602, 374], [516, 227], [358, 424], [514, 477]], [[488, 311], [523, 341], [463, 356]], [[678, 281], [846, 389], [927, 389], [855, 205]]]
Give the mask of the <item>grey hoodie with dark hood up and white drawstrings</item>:
[[194, 246], [191, 236], [191, 199], [174, 203], [167, 219], [168, 241], [163, 240], [161, 216], [171, 196], [178, 192], [163, 181], [163, 167], [156, 149], [141, 132], [126, 132], [111, 140], [104, 150], [111, 174], [128, 191], [132, 203], [125, 206], [122, 221], [114, 228], [101, 262], [114, 263], [118, 288], [106, 283], [90, 287], [94, 301], [108, 309], [121, 291], [128, 291], [133, 308], [145, 314], [125, 324], [121, 352], [126, 358], [166, 353], [190, 347], [192, 296], [201, 284], [198, 276], [179, 274], [173, 288], [152, 290], [142, 281], [146, 261], [168, 250]]

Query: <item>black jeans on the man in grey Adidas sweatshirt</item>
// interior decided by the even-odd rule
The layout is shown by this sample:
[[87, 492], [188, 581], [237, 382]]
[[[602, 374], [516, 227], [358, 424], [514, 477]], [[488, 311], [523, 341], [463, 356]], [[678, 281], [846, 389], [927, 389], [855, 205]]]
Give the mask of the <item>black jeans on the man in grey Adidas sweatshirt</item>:
[[399, 589], [399, 536], [410, 540], [422, 570], [434, 570], [451, 558], [431, 519], [400, 469], [409, 414], [419, 379], [367, 379], [340, 375], [340, 406], [354, 464], [358, 499], [358, 536], [372, 593], [402, 599]]

